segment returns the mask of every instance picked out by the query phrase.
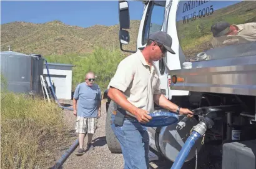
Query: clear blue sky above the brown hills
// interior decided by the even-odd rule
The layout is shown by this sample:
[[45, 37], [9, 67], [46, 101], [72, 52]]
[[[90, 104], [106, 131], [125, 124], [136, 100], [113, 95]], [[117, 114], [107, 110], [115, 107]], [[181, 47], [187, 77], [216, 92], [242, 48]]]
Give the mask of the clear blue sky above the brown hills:
[[[140, 20], [144, 4], [129, 2], [129, 9], [130, 19]], [[118, 24], [118, 1], [1, 1], [1, 24], [54, 20], [81, 27]]]

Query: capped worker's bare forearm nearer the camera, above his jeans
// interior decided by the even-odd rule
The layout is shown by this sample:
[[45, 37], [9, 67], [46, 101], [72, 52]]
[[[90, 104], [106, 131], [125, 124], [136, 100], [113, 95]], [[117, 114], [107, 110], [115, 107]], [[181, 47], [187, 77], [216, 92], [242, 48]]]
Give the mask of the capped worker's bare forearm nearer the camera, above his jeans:
[[120, 105], [122, 109], [136, 115], [135, 110], [138, 108], [132, 105], [120, 90], [111, 87], [107, 95], [111, 98], [111, 100], [116, 102], [116, 104]]

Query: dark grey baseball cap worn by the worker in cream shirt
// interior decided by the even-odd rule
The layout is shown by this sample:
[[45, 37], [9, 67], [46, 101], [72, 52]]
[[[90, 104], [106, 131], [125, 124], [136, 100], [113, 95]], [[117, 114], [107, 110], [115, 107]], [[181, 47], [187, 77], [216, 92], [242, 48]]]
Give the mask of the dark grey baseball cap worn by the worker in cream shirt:
[[152, 41], [158, 42], [159, 44], [162, 44], [167, 51], [169, 51], [171, 54], [175, 54], [175, 52], [172, 50], [172, 37], [170, 37], [167, 32], [154, 32], [149, 35], [149, 39]]

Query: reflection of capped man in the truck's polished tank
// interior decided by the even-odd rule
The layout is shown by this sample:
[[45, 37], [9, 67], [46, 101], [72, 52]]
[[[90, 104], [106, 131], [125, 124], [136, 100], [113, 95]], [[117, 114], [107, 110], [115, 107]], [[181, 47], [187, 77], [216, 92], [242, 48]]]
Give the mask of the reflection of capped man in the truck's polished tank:
[[211, 31], [214, 48], [256, 41], [256, 22], [239, 25], [217, 22], [211, 27]]

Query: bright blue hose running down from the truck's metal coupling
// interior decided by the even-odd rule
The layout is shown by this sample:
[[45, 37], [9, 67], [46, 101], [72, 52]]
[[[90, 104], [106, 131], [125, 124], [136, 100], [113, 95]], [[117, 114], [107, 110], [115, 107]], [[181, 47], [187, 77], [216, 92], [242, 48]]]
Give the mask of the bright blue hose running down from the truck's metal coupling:
[[180, 169], [182, 165], [184, 164], [187, 156], [189, 155], [189, 152], [191, 148], [194, 146], [195, 142], [201, 137], [201, 135], [195, 131], [192, 132], [192, 134], [187, 138], [187, 141], [183, 145], [182, 149], [179, 152], [179, 155], [176, 157], [174, 164], [172, 165], [172, 168], [170, 169]]

